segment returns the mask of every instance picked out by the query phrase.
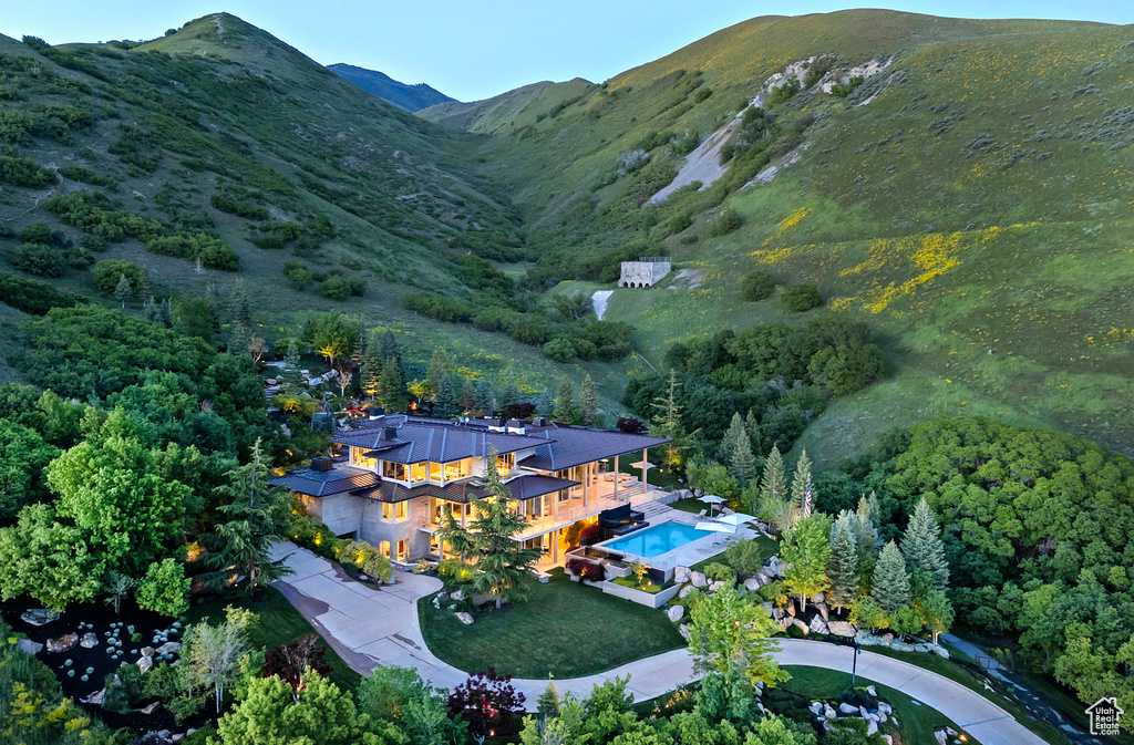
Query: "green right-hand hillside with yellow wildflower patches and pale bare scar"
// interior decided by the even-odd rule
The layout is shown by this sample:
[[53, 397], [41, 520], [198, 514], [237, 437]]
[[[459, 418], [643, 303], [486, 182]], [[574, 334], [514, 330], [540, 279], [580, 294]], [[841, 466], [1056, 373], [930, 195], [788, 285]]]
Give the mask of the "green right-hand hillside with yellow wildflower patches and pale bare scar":
[[[889, 67], [847, 98], [816, 86], [770, 107], [778, 138], [767, 158], [796, 161], [771, 183], [750, 183], [767, 160], [747, 173], [734, 161], [711, 189], [638, 206], [680, 166], [684, 133], [705, 137], [769, 76], [823, 54], [836, 69]], [[1134, 28], [865, 10], [765, 17], [567, 107], [510, 116], [531, 124], [483, 146], [526, 218], [530, 259], [543, 268], [532, 281], [601, 279], [638, 253], [704, 273], [695, 288], [615, 291], [608, 318], [635, 324], [654, 364], [672, 341], [721, 325], [818, 313], [882, 335], [891, 381], [811, 429], [804, 442], [822, 462], [941, 413], [1042, 422], [1127, 449]], [[619, 156], [636, 149], [648, 161], [620, 172]], [[742, 227], [713, 237], [709, 221], [725, 208]], [[678, 214], [692, 227], [670, 235]], [[755, 268], [816, 283], [826, 308], [743, 302], [738, 280]]]

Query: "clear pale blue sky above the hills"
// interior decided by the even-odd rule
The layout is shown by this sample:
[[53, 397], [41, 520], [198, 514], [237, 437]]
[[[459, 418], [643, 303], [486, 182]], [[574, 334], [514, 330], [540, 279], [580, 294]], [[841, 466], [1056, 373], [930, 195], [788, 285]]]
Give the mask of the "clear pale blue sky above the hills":
[[[865, 3], [869, 5], [869, 3]], [[464, 101], [526, 83], [601, 82], [754, 16], [861, 7], [835, 0], [3, 0], [0, 33], [49, 43], [152, 39], [227, 10], [324, 65], [350, 62]], [[965, 18], [1134, 24], [1134, 0], [896, 0]]]

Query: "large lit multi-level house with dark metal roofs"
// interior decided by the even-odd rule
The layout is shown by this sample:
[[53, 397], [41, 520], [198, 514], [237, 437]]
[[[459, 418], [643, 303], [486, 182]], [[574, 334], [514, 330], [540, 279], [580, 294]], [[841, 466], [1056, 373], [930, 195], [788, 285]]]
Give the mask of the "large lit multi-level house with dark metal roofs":
[[[541, 418], [454, 422], [379, 409], [331, 437], [342, 455], [271, 483], [298, 494], [307, 514], [340, 537], [366, 541], [396, 561], [443, 559], [443, 509], [462, 524], [473, 517], [473, 502], [488, 494], [485, 459], [494, 450], [497, 471], [530, 520], [516, 540], [553, 564], [569, 548], [572, 525], [648, 496], [649, 448], [668, 441]], [[619, 456], [640, 450], [641, 479], [620, 474]]]

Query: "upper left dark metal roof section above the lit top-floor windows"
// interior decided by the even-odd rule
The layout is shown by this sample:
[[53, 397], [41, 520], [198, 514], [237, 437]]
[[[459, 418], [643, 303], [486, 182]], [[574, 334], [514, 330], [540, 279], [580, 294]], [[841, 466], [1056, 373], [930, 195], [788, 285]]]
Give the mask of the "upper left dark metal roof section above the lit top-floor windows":
[[[397, 426], [397, 438], [382, 440], [386, 427]], [[380, 450], [379, 457], [390, 463], [451, 463], [464, 458], [484, 457], [492, 448], [507, 454], [547, 443], [544, 437], [490, 432], [488, 427], [445, 420], [404, 415], [383, 416], [355, 425], [331, 437], [331, 441], [352, 448]]]

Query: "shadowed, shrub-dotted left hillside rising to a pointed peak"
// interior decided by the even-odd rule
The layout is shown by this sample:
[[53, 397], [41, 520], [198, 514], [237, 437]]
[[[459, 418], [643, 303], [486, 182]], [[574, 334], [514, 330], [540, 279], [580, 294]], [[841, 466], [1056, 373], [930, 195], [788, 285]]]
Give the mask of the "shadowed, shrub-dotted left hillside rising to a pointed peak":
[[[574, 366], [401, 307], [423, 289], [469, 296], [451, 257], [518, 245], [508, 194], [482, 176], [469, 142], [226, 14], [144, 44], [45, 48], [0, 36], [0, 155], [14, 159], [0, 169], [0, 270], [18, 270], [19, 235], [43, 222], [69, 262], [44, 279], [62, 289], [116, 303], [88, 269], [107, 259], [144, 265], [159, 297], [202, 296], [210, 285], [223, 295], [239, 279], [269, 342], [305, 313], [341, 310], [397, 329], [411, 361], [447, 344], [459, 366], [553, 387]], [[48, 209], [79, 192], [105, 195], [113, 220], [146, 218], [163, 235], [95, 239], [91, 226]], [[323, 218], [330, 237], [311, 229]], [[236, 271], [208, 260], [198, 268], [169, 247], [198, 235], [230, 248]], [[285, 264], [306, 266], [314, 285], [290, 287]], [[335, 277], [364, 280], [365, 294], [324, 297], [320, 280]], [[0, 350], [15, 329], [6, 316]]]

